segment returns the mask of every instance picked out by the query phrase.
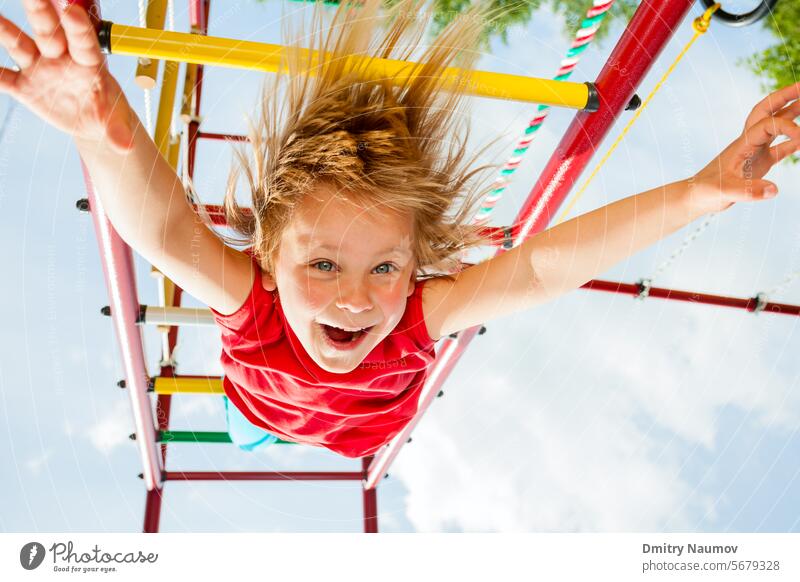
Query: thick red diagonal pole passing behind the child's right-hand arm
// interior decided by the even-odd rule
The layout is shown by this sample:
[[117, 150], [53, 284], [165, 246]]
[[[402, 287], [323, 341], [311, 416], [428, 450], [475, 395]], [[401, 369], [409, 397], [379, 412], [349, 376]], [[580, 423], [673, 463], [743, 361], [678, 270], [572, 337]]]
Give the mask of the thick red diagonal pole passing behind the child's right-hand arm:
[[[517, 215], [514, 225], [520, 225], [519, 240], [546, 228], [692, 3], [693, 0], [642, 0], [595, 82], [600, 109], [577, 114]], [[447, 379], [478, 328], [462, 331], [456, 340], [445, 340], [442, 352], [448, 357], [442, 358], [440, 354], [431, 368], [412, 425], [419, 422], [432, 401], [433, 390], [428, 389], [428, 384], [441, 384]], [[423, 400], [426, 395], [428, 398]], [[409, 431], [403, 430], [375, 456], [365, 487], [377, 485], [408, 440], [408, 434]]]

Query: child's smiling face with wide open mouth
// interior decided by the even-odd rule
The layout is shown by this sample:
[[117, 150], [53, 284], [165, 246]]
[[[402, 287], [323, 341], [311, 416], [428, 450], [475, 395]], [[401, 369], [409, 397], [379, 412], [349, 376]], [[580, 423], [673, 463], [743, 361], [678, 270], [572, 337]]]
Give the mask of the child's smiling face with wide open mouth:
[[359, 206], [327, 185], [296, 207], [265, 281], [324, 370], [355, 369], [400, 321], [414, 291], [413, 230], [410, 214]]

